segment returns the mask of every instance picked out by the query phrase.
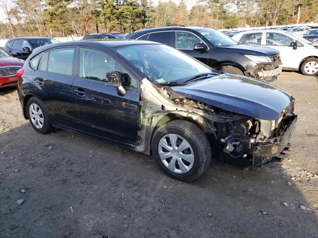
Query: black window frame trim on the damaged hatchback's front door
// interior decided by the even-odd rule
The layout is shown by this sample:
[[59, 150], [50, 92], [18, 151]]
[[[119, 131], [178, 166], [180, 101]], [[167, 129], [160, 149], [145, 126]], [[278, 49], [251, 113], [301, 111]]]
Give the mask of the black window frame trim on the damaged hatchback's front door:
[[[117, 60], [115, 57], [113, 57], [110, 53], [108, 53], [107, 51], [103, 50], [103, 49], [100, 49], [100, 48], [97, 48], [97, 47], [91, 47], [91, 46], [78, 46], [77, 47], [77, 51], [76, 51], [76, 65], [75, 65], [75, 68], [76, 68], [76, 71], [75, 71], [75, 75], [76, 77], [79, 77], [79, 55], [80, 55], [80, 49], [83, 48], [83, 49], [91, 49], [91, 50], [95, 50], [95, 51], [99, 51], [101, 53], [104, 53], [106, 54], [108, 57], [112, 58], [113, 60], [115, 60], [121, 67], [121, 72], [123, 71], [123, 68], [126, 69], [137, 81], [137, 88], [134, 88], [134, 87], [129, 87], [129, 86], [125, 86], [125, 88], [127, 89], [140, 89], [140, 80], [139, 78], [134, 74], [132, 73], [125, 65], [123, 65], [121, 62], [119, 62], [119, 60]], [[83, 78], [83, 77], [79, 77], [79, 78]], [[94, 80], [96, 81], [95, 79], [90, 79], [90, 78], [83, 78], [83, 79], [87, 79], [87, 80]], [[112, 85], [111, 83], [108, 83], [108, 82], [104, 82], [104, 81], [101, 81], [102, 83], [107, 83], [109, 85]]]

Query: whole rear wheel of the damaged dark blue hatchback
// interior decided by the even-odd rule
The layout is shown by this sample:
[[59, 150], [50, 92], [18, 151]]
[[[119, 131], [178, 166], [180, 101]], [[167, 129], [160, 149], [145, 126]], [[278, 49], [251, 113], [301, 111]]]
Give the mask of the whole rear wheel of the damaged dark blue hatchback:
[[45, 107], [38, 98], [32, 97], [29, 99], [27, 103], [27, 114], [31, 125], [37, 132], [46, 134], [54, 130], [45, 111]]

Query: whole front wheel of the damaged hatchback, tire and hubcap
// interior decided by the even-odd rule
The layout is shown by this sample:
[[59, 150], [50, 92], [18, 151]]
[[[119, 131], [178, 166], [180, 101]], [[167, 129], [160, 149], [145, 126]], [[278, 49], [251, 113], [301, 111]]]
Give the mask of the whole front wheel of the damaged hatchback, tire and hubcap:
[[201, 129], [185, 120], [170, 121], [155, 132], [153, 156], [159, 167], [173, 179], [199, 178], [211, 162], [211, 146]]

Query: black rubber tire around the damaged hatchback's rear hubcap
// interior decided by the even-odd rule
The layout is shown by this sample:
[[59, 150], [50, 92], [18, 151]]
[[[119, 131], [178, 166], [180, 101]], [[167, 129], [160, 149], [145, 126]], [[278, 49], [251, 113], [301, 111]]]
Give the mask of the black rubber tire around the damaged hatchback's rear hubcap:
[[[43, 118], [44, 122], [43, 122], [43, 126], [41, 128], [37, 128], [34, 125], [34, 123], [32, 122], [32, 119], [30, 117], [30, 106], [32, 104], [36, 104], [42, 111], [42, 118]], [[44, 104], [37, 97], [32, 97], [29, 99], [29, 101], [27, 103], [27, 107], [26, 107], [26, 113], [27, 113], [27, 116], [29, 118], [29, 121], [30, 121], [32, 127], [40, 134], [47, 134], [47, 133], [50, 133], [54, 130], [54, 127], [52, 126], [50, 119], [47, 116]]]

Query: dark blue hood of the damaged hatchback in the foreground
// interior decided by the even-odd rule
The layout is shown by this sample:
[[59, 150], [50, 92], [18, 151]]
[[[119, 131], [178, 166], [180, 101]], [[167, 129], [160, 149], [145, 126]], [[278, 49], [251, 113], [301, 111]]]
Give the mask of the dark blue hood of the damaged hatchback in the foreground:
[[279, 119], [280, 113], [294, 100], [271, 84], [229, 73], [171, 88], [186, 98], [264, 120]]

